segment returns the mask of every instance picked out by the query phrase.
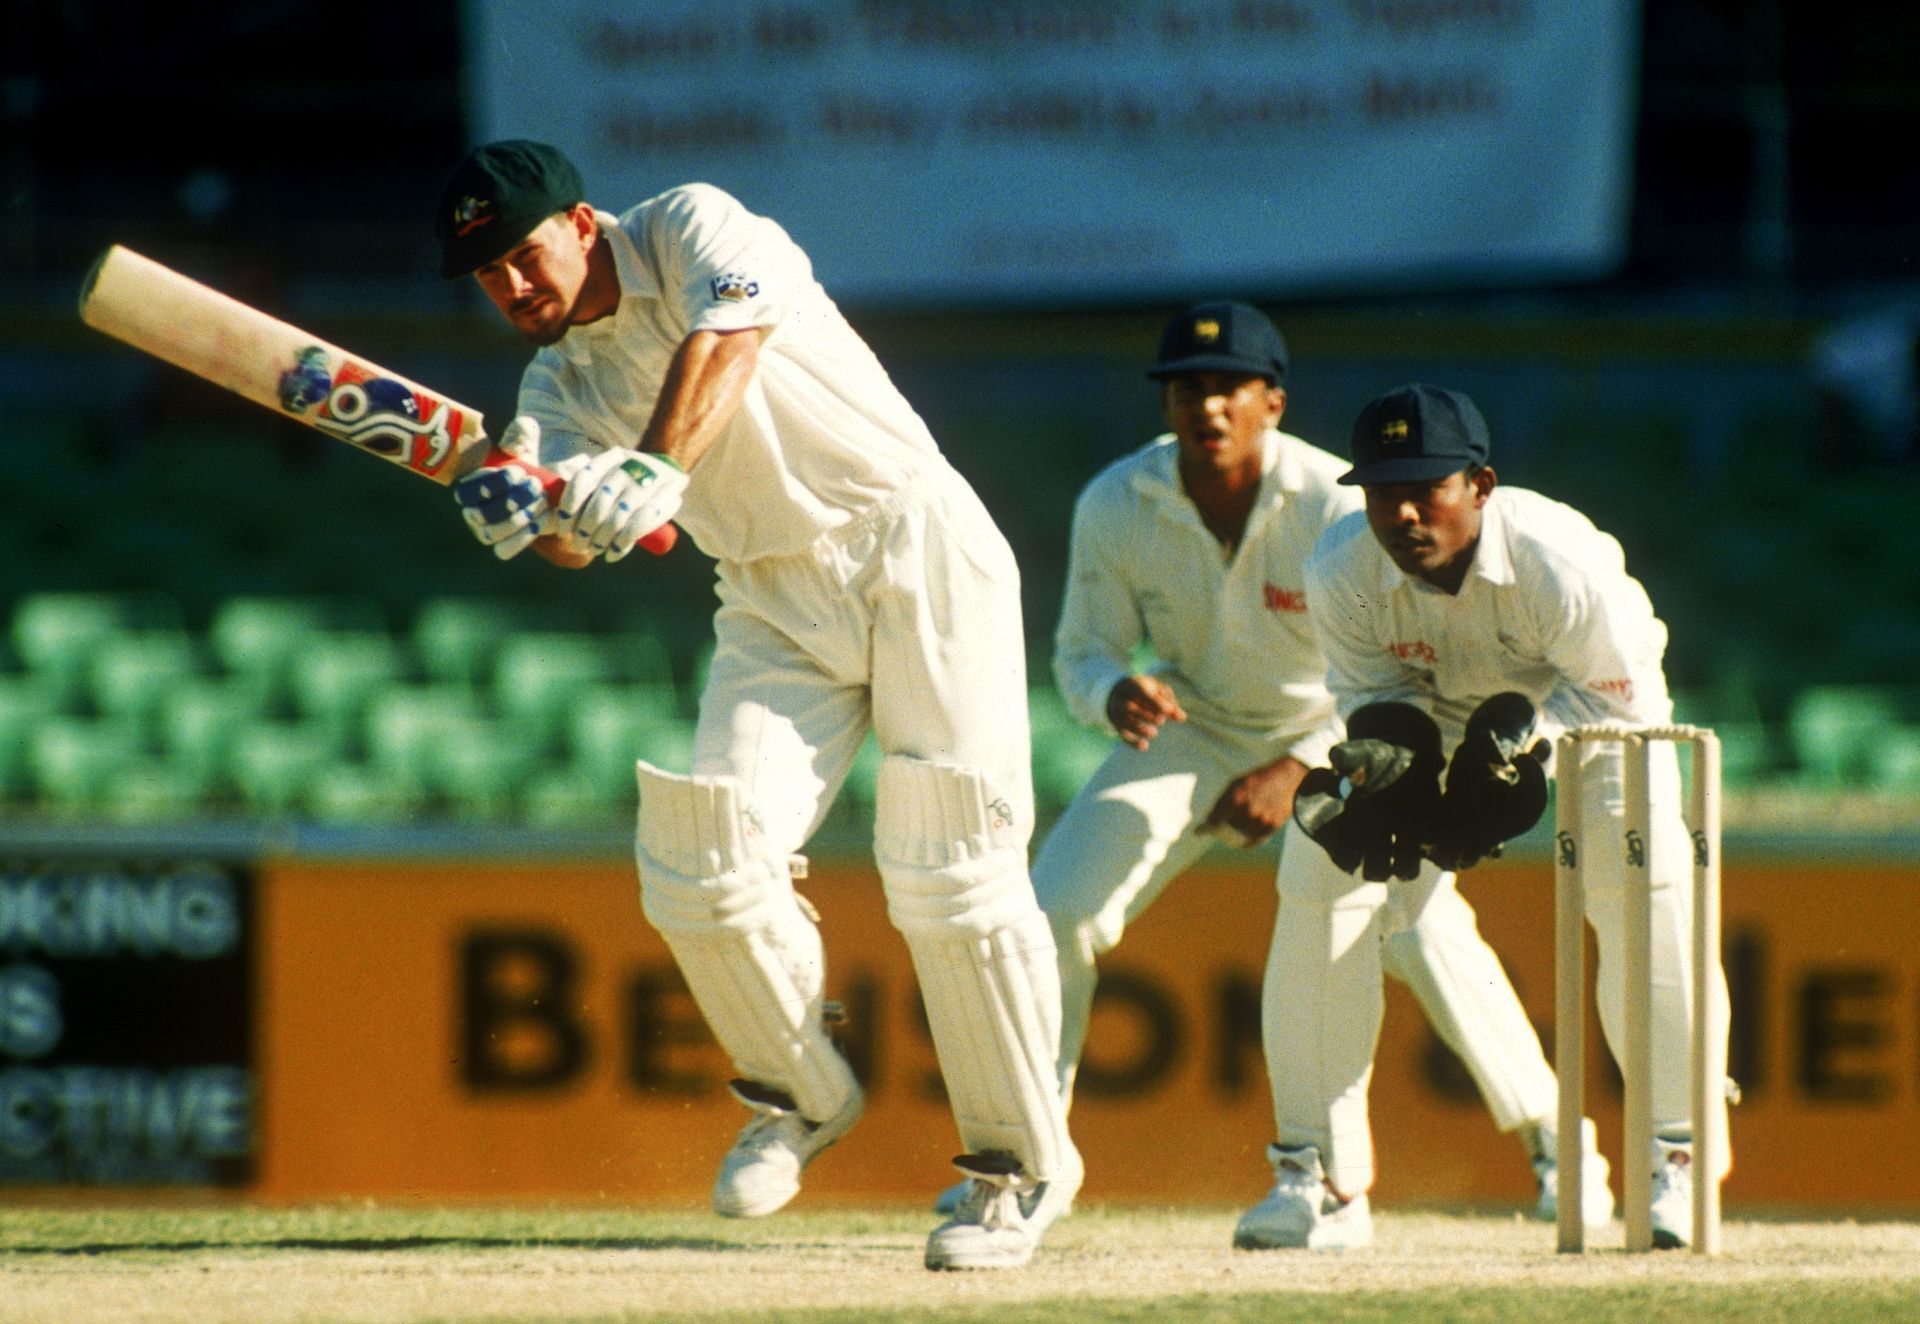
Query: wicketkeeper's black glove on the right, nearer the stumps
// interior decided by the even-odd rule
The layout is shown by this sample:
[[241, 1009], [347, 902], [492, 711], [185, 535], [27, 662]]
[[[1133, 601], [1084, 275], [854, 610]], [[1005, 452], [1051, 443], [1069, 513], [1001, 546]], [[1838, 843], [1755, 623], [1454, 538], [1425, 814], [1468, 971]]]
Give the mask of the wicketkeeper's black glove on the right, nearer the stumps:
[[1548, 743], [1524, 695], [1494, 695], [1467, 718], [1467, 735], [1446, 769], [1446, 794], [1428, 854], [1442, 869], [1469, 869], [1500, 856], [1548, 808]]

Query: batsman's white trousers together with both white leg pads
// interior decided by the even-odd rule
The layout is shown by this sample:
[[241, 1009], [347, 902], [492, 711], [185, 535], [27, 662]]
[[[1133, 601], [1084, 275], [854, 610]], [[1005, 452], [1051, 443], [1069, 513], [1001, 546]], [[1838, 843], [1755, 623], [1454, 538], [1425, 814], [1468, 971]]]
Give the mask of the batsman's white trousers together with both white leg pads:
[[[962, 1144], [1039, 1180], [1064, 1170], [1058, 963], [1027, 875], [1025, 635], [1006, 539], [943, 464], [801, 555], [722, 564], [714, 635], [693, 775], [641, 766], [637, 842], [645, 911], [714, 1034], [741, 1075], [814, 1121], [854, 1094], [820, 1027], [822, 942], [785, 860], [872, 727], [874, 854]], [[733, 808], [710, 825], [660, 808], [682, 800]]]

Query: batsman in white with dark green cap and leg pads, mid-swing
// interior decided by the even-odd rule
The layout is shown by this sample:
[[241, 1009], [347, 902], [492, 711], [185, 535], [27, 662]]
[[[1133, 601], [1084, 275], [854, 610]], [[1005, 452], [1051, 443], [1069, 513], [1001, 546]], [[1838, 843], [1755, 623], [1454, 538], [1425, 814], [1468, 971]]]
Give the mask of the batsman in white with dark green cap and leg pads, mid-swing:
[[[1060, 975], [1027, 877], [1020, 572], [972, 487], [774, 221], [707, 184], [611, 215], [553, 146], [490, 142], [434, 211], [540, 349], [501, 443], [455, 485], [482, 543], [616, 562], [668, 522], [718, 562], [691, 773], [637, 764], [641, 904], [751, 1109], [712, 1205], [760, 1217], [860, 1117], [822, 1023], [820, 933], [787, 860], [872, 729], [874, 852], [968, 1178], [929, 1268], [1025, 1265], [1073, 1199], [1054, 1086]], [[636, 591], [645, 593], [643, 570]]]

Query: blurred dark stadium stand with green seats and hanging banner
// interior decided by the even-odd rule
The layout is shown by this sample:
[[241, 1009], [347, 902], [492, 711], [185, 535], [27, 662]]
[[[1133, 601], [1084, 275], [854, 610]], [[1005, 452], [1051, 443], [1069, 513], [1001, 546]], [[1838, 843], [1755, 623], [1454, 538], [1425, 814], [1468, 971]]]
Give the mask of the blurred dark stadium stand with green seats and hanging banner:
[[[1584, 44], [1555, 44], [1563, 27]], [[795, 73], [851, 33], [868, 48], [818, 86]], [[1377, 121], [1421, 119], [1380, 109], [1411, 98], [1428, 136], [1356, 146], [1315, 123], [1298, 54], [1315, 40], [1371, 81]], [[1290, 430], [1342, 451], [1380, 390], [1461, 386], [1505, 482], [1620, 537], [1670, 626], [1680, 716], [1726, 741], [1736, 833], [1908, 860], [1916, 46], [1920, 13], [1805, 0], [1578, 19], [1546, 0], [31, 4], [0, 52], [0, 850], [624, 854], [632, 758], [674, 766], [689, 739], [712, 603], [691, 547], [618, 572], [501, 566], [445, 493], [73, 315], [86, 265], [123, 242], [503, 420], [526, 351], [432, 276], [426, 209], [468, 142], [526, 132], [576, 150], [605, 207], [712, 178], [814, 253], [1020, 553], [1043, 816], [1106, 748], [1046, 672], [1073, 495], [1160, 430], [1140, 370], [1167, 313], [1242, 297], [1290, 342]], [[1221, 71], [1258, 94], [1269, 61], [1292, 71], [1281, 92], [1223, 109], [1208, 152], [1183, 140], [1177, 107]], [[1094, 90], [1012, 129], [989, 106], [950, 152], [849, 129], [956, 67], [973, 92]], [[1469, 130], [1448, 113], [1498, 106], [1501, 77], [1515, 102], [1546, 96], [1538, 142], [1590, 169], [1536, 171], [1540, 125], [1498, 115], [1469, 125], [1480, 157], [1448, 155]], [[835, 86], [868, 100], [833, 109]], [[685, 88], [705, 115], [674, 119]], [[828, 100], [776, 96], [808, 88]], [[783, 113], [795, 129], [768, 136]], [[1173, 129], [1117, 165], [1068, 130], [1098, 113]], [[996, 125], [1025, 134], [1004, 155]], [[1048, 198], [1048, 178], [1085, 196]], [[1114, 178], [1187, 228], [1087, 230], [1075, 207]], [[1066, 248], [975, 230], [912, 251], [987, 205], [1062, 207]], [[1425, 207], [1448, 242], [1423, 261], [1369, 248], [1365, 215]], [[1192, 248], [1215, 221], [1231, 248]], [[1559, 248], [1523, 242], [1563, 223]], [[973, 280], [970, 255], [996, 274]], [[862, 764], [828, 850], [856, 854], [870, 794]]]

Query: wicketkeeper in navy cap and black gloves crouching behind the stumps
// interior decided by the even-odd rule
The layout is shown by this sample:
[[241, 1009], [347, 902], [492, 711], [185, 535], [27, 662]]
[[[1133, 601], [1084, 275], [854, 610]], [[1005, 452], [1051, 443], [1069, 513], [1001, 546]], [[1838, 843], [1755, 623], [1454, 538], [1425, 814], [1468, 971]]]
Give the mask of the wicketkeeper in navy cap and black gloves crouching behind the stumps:
[[[1340, 482], [1361, 487], [1365, 510], [1332, 526], [1308, 562], [1313, 627], [1348, 729], [1329, 766], [1308, 773], [1294, 817], [1336, 863], [1359, 869], [1340, 900], [1359, 923], [1436, 863], [1473, 867], [1530, 829], [1561, 731], [1665, 725], [1672, 702], [1661, 672], [1667, 627], [1620, 545], [1571, 507], [1500, 487], [1471, 399], [1432, 386], [1390, 391], [1361, 411], [1352, 445]], [[1653, 1165], [1653, 1241], [1680, 1247], [1693, 1217], [1688, 1061], [1701, 1007], [1692, 1005], [1692, 862], [1672, 745], [1653, 745], [1651, 777], [1655, 1140], [1626, 1161]], [[1586, 745], [1578, 781], [1580, 839], [1620, 840], [1620, 746]], [[1586, 852], [1582, 879], [1599, 940], [1601, 1027], [1619, 1055], [1624, 852]], [[1283, 1153], [1298, 1155], [1300, 1176], [1277, 1199], [1313, 1217], [1373, 1176], [1373, 1046], [1336, 1009], [1377, 996], [1379, 965], [1327, 915], [1281, 906], [1281, 927], [1296, 959], [1325, 973], [1281, 988], [1283, 1032], [1350, 1082], [1332, 1107], [1306, 1107], [1300, 1096], [1281, 1117]], [[1713, 996], [1724, 1009], [1724, 979]], [[1311, 1176], [1321, 1167], [1325, 1180]]]

